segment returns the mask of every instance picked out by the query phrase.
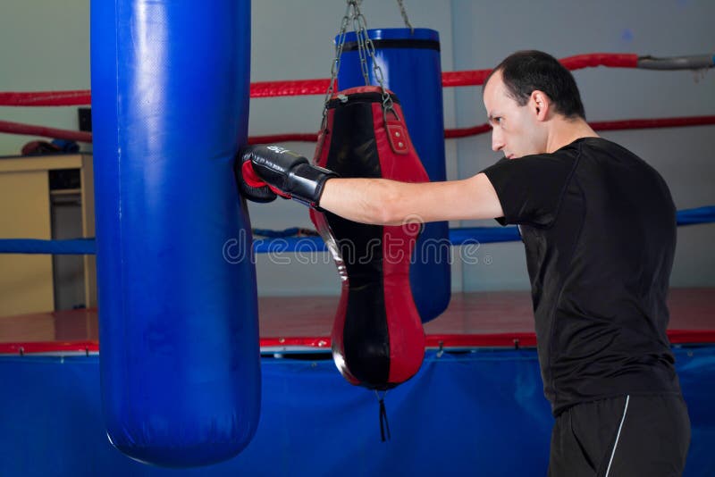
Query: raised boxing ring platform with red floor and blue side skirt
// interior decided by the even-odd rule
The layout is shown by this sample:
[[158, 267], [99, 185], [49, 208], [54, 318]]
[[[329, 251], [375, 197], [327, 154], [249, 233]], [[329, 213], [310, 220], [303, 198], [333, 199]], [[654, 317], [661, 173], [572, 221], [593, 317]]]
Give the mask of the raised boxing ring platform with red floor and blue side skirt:
[[[669, 338], [693, 423], [686, 475], [715, 468], [712, 289], [672, 289]], [[139, 464], [105, 438], [97, 310], [0, 318], [3, 474], [371, 475], [543, 474], [552, 417], [526, 292], [455, 294], [425, 324], [420, 372], [387, 397], [392, 439], [379, 439], [375, 399], [335, 370], [337, 297], [259, 301], [263, 391], [257, 434], [240, 456], [194, 470]], [[535, 472], [534, 469], [541, 469]], [[543, 471], [543, 472], [542, 472]]]

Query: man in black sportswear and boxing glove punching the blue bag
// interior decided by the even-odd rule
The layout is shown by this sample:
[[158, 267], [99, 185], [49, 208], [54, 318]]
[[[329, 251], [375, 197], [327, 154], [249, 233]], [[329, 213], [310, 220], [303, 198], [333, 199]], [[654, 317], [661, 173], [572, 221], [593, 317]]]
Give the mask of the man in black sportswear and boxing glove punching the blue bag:
[[598, 137], [573, 76], [548, 54], [510, 55], [483, 98], [492, 149], [505, 157], [469, 179], [340, 179], [265, 147], [243, 153], [244, 178], [356, 222], [518, 224], [556, 417], [550, 475], [681, 474], [690, 422], [666, 336], [676, 244], [668, 186]]

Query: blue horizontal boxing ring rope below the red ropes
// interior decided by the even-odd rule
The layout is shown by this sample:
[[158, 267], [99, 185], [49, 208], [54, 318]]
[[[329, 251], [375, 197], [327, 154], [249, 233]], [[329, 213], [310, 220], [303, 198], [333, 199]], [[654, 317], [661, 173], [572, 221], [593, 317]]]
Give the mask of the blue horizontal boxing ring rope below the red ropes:
[[[715, 205], [678, 211], [677, 225], [695, 225], [715, 222]], [[263, 237], [254, 237], [253, 251], [256, 254], [312, 253], [327, 250], [320, 237], [295, 237], [301, 229], [256, 230]], [[290, 235], [289, 235], [290, 234]], [[517, 227], [464, 227], [450, 229], [450, 244], [489, 244], [513, 242], [521, 238]], [[97, 245], [94, 238], [74, 238], [69, 240], [42, 240], [37, 238], [0, 238], [0, 254], [51, 254], [51, 255], [95, 255]]]

